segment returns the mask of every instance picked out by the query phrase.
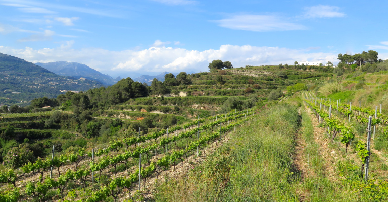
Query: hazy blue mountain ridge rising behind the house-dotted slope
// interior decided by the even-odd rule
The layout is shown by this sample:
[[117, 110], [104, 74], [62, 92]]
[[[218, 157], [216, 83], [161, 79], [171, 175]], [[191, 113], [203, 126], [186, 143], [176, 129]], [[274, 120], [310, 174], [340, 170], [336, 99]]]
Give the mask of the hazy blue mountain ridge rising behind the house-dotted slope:
[[89, 68], [86, 64], [77, 62], [49, 62], [49, 63], [35, 63], [43, 68], [54, 72], [57, 75], [69, 76], [80, 79], [81, 77], [90, 80], [97, 80], [105, 85], [113, 85], [117, 81], [109, 75], [104, 75], [99, 71]]

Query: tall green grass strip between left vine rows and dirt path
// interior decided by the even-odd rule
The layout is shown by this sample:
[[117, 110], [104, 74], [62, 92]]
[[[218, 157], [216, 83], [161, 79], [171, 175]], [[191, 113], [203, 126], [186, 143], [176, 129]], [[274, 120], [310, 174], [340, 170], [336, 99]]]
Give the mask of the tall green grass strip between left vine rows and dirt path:
[[299, 120], [294, 106], [261, 112], [188, 176], [159, 184], [155, 201], [297, 201], [292, 152]]

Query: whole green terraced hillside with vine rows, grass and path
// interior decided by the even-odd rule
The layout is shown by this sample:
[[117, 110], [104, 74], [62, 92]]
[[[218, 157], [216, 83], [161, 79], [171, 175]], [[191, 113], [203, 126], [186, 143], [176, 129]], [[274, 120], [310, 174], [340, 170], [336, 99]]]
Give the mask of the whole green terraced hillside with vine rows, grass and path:
[[[1, 108], [0, 175], [16, 178], [2, 178], [0, 197], [384, 201], [388, 74], [299, 67], [181, 72], [150, 86], [126, 78]], [[365, 185], [365, 117], [379, 104]]]

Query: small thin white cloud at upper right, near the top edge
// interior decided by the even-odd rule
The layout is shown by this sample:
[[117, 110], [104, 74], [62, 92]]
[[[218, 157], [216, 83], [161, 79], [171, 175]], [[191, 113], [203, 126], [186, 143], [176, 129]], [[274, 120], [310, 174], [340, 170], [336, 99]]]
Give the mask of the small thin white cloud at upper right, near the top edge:
[[305, 18], [335, 18], [344, 17], [345, 14], [338, 12], [340, 7], [317, 5], [312, 7], [305, 7]]

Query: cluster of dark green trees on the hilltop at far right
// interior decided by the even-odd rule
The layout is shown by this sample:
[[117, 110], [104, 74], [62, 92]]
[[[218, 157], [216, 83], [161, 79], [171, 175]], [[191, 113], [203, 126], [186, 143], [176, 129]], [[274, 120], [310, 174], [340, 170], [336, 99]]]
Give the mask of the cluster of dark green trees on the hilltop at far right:
[[338, 54], [338, 58], [342, 63], [345, 64], [357, 64], [362, 65], [366, 62], [375, 63], [378, 62], [378, 53], [374, 50], [368, 50], [368, 52], [362, 51], [361, 54], [357, 53], [354, 55]]

